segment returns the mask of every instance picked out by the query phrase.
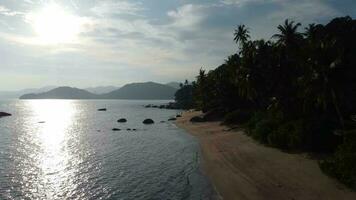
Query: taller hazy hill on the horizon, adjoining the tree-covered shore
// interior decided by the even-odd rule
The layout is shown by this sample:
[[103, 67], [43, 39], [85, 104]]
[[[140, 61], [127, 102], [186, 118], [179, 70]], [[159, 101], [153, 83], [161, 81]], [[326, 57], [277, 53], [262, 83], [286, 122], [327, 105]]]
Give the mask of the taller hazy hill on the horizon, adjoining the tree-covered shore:
[[176, 88], [154, 82], [131, 83], [102, 97], [105, 99], [174, 99], [176, 91]]

